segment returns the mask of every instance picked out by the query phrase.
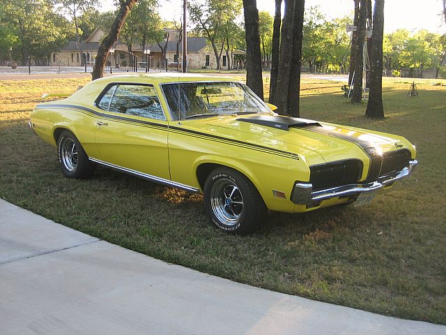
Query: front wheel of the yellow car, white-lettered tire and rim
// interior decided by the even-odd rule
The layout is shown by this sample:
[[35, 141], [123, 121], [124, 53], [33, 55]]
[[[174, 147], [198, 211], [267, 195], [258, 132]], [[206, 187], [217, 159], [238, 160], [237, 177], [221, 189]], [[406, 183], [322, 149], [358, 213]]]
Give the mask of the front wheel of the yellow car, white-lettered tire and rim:
[[226, 232], [249, 234], [258, 229], [265, 218], [266, 206], [259, 191], [236, 170], [213, 170], [203, 191], [208, 220]]

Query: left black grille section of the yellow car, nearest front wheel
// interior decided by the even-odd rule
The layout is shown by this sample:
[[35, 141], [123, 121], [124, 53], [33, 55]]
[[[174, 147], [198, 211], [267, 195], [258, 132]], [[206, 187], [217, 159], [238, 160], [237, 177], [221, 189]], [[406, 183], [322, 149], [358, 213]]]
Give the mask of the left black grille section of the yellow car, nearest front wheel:
[[310, 166], [313, 191], [355, 184], [362, 175], [362, 162], [356, 159]]

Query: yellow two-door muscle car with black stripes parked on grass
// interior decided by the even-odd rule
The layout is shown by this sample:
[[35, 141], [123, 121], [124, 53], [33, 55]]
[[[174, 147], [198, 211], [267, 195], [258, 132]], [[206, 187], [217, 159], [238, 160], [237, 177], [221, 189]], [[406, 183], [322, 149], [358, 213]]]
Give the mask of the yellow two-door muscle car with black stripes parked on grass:
[[401, 136], [274, 109], [229, 78], [121, 75], [37, 105], [29, 126], [57, 147], [66, 177], [102, 165], [203, 193], [210, 222], [235, 234], [252, 232], [267, 209], [366, 204], [417, 165]]

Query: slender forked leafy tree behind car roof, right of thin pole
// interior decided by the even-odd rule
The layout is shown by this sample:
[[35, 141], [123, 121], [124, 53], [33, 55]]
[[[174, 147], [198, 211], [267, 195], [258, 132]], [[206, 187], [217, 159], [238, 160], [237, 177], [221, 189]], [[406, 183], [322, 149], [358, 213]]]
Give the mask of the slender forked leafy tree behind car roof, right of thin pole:
[[[220, 59], [226, 42], [224, 26], [233, 22], [240, 15], [241, 0], [206, 0], [201, 3], [197, 0], [187, 4], [190, 21], [196, 25], [195, 31], [206, 37], [209, 41], [217, 62], [217, 70], [220, 70]], [[217, 48], [217, 44], [219, 48]], [[218, 50], [220, 49], [220, 51]]]

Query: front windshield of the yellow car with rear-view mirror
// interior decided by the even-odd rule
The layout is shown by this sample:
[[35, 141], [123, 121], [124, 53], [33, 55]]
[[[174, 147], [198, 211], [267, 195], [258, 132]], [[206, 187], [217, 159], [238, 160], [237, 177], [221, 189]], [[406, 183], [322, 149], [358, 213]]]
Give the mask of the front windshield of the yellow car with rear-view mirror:
[[268, 113], [266, 105], [239, 82], [176, 82], [162, 84], [171, 117], [178, 120], [219, 114]]

